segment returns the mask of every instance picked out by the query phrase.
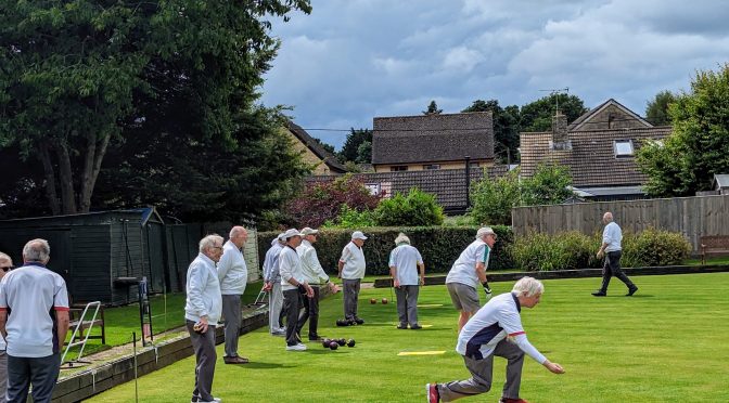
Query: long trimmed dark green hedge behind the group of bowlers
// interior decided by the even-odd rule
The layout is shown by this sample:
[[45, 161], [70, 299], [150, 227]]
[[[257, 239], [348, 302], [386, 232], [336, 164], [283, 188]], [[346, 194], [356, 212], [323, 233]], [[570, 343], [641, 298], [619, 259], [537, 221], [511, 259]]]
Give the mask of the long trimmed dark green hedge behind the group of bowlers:
[[[511, 227], [493, 226], [498, 236], [489, 270], [510, 269], [513, 266], [511, 257], [506, 251], [513, 242]], [[367, 275], [388, 274], [389, 252], [395, 248], [395, 237], [405, 233], [412, 246], [420, 250], [425, 263], [426, 273], [446, 273], [450, 270], [461, 251], [475, 239], [476, 226], [415, 226], [415, 227], [370, 227], [364, 229], [369, 238], [364, 242], [364, 259]], [[315, 247], [319, 261], [324, 270], [336, 273], [336, 263], [342, 256], [342, 248], [351, 239], [354, 230], [321, 229]], [[271, 239], [278, 233], [258, 233], [258, 255], [263, 259], [270, 248]], [[260, 262], [263, 264], [263, 260]]]

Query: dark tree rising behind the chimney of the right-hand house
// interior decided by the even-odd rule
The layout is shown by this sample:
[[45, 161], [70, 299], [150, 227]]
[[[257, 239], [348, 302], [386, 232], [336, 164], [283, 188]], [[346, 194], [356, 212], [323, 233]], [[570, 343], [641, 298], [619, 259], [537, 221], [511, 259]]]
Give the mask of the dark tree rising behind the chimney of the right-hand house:
[[560, 112], [567, 117], [567, 121], [573, 121], [589, 110], [576, 95], [553, 93], [522, 106], [521, 131], [550, 131], [558, 102]]

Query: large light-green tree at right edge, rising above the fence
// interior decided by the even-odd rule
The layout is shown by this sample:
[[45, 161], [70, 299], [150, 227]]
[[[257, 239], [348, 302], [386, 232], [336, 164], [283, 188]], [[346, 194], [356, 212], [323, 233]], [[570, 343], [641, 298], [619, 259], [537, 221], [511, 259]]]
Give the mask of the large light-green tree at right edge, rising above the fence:
[[729, 64], [701, 70], [691, 91], [676, 96], [668, 110], [674, 130], [663, 144], [638, 152], [653, 196], [688, 196], [711, 188], [715, 173], [729, 172]]

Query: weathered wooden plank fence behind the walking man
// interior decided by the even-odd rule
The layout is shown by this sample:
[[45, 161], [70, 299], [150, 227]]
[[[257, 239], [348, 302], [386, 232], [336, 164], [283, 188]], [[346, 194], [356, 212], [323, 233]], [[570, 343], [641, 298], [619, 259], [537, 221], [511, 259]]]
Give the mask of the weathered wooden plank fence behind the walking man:
[[680, 232], [700, 250], [703, 235], [729, 235], [729, 196], [655, 198], [627, 202], [517, 207], [511, 212], [514, 235], [602, 231], [602, 214], [612, 211], [623, 231], [639, 233], [649, 227]]

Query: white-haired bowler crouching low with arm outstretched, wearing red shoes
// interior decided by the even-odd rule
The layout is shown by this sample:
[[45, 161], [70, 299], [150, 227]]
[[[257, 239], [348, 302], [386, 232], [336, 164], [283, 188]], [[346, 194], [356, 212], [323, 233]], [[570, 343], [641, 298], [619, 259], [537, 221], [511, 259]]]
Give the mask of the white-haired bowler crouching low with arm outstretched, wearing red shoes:
[[560, 364], [547, 360], [526, 338], [522, 327], [522, 307], [539, 303], [545, 286], [538, 280], [523, 277], [511, 292], [501, 294], [479, 309], [458, 335], [456, 351], [463, 355], [471, 378], [447, 384], [427, 384], [430, 403], [450, 402], [486, 393], [491, 389], [494, 356], [507, 359], [507, 382], [500, 403], [527, 403], [520, 399], [524, 353], [553, 374], [564, 374]]

